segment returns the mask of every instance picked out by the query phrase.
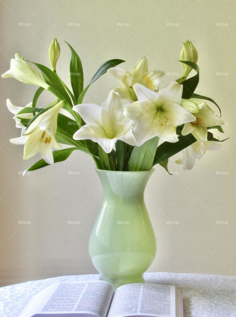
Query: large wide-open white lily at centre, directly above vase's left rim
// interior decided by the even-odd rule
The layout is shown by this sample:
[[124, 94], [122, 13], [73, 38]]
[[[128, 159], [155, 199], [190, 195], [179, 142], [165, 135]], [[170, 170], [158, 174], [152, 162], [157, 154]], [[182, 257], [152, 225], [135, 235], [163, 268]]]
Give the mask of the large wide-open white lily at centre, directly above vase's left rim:
[[90, 139], [97, 142], [106, 153], [112, 151], [117, 140], [135, 145], [132, 121], [124, 116], [118, 93], [111, 91], [102, 106], [80, 104], [74, 106], [73, 110], [78, 112], [86, 123], [73, 135], [75, 140]]

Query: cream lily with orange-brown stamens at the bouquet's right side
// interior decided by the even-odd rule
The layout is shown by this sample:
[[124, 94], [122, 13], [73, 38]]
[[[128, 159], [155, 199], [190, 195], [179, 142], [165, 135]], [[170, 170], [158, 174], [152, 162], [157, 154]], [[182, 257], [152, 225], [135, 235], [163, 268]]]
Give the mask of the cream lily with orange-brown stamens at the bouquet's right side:
[[220, 126], [224, 121], [214, 114], [205, 101], [198, 99], [182, 99], [181, 106], [195, 116], [195, 120], [185, 123], [182, 134], [192, 133], [201, 142], [207, 141], [207, 127]]

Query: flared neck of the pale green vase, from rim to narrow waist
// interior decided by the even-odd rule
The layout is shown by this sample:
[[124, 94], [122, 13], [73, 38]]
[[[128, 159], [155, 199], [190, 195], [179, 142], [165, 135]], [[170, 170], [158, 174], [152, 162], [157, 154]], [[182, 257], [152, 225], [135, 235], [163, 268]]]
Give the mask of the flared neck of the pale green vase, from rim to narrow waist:
[[143, 197], [146, 184], [154, 170], [151, 171], [103, 171], [96, 170], [101, 180], [104, 198]]

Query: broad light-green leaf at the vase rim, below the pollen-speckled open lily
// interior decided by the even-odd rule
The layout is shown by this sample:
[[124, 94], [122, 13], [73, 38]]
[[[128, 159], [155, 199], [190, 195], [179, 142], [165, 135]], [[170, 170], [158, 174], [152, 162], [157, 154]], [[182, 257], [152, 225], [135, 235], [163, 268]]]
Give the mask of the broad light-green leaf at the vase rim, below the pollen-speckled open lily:
[[159, 138], [147, 140], [141, 146], [134, 146], [128, 162], [128, 171], [149, 171], [152, 168]]

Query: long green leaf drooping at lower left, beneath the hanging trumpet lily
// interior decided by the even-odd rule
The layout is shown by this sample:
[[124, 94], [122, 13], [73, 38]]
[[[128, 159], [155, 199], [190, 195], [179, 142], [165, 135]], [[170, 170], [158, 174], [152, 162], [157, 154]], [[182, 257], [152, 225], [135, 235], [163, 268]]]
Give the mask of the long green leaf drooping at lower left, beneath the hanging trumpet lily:
[[[71, 155], [71, 153], [74, 150], [82, 150], [82, 151], [84, 151], [83, 148], [78, 147], [78, 146], [77, 147], [69, 147], [68, 149], [53, 151], [54, 163], [65, 161]], [[42, 167], [45, 167], [45, 166], [48, 166], [48, 165], [51, 165], [51, 164], [46, 163], [44, 159], [40, 159], [38, 162], [34, 163], [27, 170], [25, 170], [23, 172], [23, 175], [27, 171], [35, 171], [35, 170], [38, 170], [39, 168], [42, 168]]]

